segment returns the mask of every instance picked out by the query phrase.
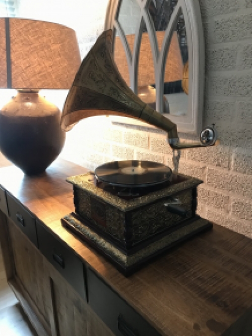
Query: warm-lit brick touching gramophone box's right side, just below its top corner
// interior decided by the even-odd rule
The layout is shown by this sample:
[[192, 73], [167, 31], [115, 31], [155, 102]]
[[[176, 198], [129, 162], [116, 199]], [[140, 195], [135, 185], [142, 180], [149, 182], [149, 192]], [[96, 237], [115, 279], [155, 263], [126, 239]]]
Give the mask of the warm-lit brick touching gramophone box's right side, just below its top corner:
[[228, 211], [229, 196], [223, 193], [208, 189], [206, 185], [198, 187], [198, 201], [210, 207]]

